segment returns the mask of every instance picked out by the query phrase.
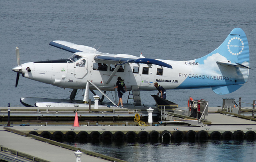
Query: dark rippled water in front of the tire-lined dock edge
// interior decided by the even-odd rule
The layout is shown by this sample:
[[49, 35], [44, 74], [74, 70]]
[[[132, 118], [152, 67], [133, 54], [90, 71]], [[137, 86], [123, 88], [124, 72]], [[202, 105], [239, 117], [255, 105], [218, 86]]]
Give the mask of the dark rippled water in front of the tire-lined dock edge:
[[256, 159], [255, 141], [66, 144], [128, 162], [249, 162]]

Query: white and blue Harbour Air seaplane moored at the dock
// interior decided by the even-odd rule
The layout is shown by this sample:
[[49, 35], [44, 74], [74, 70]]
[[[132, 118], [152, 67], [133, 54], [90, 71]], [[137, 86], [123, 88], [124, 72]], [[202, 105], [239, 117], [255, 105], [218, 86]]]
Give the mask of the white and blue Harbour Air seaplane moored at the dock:
[[[83, 103], [88, 103], [89, 90], [93, 93], [93, 90], [98, 90], [103, 95], [102, 100], [108, 98], [106, 91], [114, 91], [118, 76], [134, 96], [138, 96], [140, 90], [156, 90], [155, 82], [166, 90], [212, 88], [216, 94], [229, 94], [247, 82], [251, 69], [248, 40], [240, 28], [233, 29], [224, 42], [208, 55], [190, 61], [150, 59], [142, 54], [137, 57], [101, 53], [93, 47], [66, 41], [52, 41], [50, 45], [73, 54], [68, 59], [20, 64], [16, 47], [18, 66], [12, 68], [17, 72], [16, 87], [22, 74], [31, 80], [73, 89], [68, 101], [71, 103], [76, 101], [74, 98], [80, 89], [85, 90]], [[37, 101], [30, 98], [32, 104], [26, 104], [26, 99], [20, 100], [26, 106], [40, 106], [40, 103], [45, 106], [43, 98], [37, 98]], [[112, 99], [108, 100], [116, 105]], [[62, 100], [56, 102], [61, 103]]]

